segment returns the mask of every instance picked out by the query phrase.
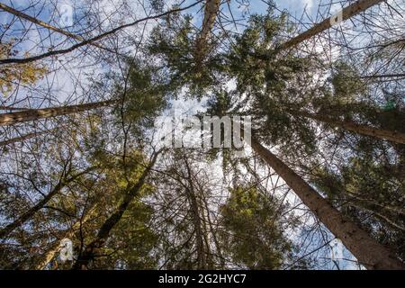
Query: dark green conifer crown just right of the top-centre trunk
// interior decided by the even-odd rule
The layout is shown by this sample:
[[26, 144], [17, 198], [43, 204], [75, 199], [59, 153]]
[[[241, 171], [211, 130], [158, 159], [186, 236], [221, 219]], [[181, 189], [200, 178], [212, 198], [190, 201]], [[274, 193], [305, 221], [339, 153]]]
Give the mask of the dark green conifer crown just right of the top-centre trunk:
[[290, 30], [286, 14], [275, 16], [270, 11], [251, 16], [247, 29], [235, 37], [236, 43], [226, 55], [227, 72], [236, 78], [240, 94], [280, 92], [295, 73], [303, 71], [305, 58], [275, 53], [282, 36]]

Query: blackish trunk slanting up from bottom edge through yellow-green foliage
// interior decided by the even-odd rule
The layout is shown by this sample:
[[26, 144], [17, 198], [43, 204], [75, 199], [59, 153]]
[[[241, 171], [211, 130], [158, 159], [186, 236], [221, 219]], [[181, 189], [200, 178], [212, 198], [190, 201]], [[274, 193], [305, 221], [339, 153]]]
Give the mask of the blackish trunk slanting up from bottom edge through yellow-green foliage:
[[85, 251], [81, 253], [76, 260], [75, 265], [73, 266], [74, 270], [85, 270], [89, 265], [90, 261], [94, 259], [94, 256], [97, 255], [100, 249], [103, 247], [105, 241], [110, 235], [111, 230], [115, 227], [115, 225], [121, 220], [123, 213], [127, 210], [130, 202], [138, 195], [140, 189], [146, 182], [148, 174], [152, 167], [155, 165], [157, 161], [157, 156], [159, 152], [155, 153], [152, 158], [152, 161], [145, 169], [143, 174], [140, 176], [139, 181], [135, 184], [128, 193], [122, 199], [120, 206], [118, 207], [117, 211], [113, 212], [112, 215], [103, 222], [102, 227], [99, 229], [96, 237], [94, 240], [85, 247]]

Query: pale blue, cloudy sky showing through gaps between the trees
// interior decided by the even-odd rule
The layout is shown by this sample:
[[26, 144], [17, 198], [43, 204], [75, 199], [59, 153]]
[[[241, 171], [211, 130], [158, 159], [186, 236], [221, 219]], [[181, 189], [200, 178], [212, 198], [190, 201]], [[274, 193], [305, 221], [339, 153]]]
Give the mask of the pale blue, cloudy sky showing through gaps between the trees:
[[[74, 6], [80, 6], [82, 3], [82, 0], [76, 0], [76, 1], [64, 1], [65, 4], [68, 3], [73, 3]], [[133, 9], [132, 9], [132, 17], [140, 17], [143, 12], [139, 9], [139, 6], [136, 4], [137, 2], [135, 0], [130, 0], [128, 1], [130, 4], [133, 4]], [[323, 1], [325, 2], [325, 1]], [[329, 2], [329, 1], [328, 1]], [[27, 1], [25, 0], [0, 0], [0, 3], [8, 4], [8, 5], [13, 5], [15, 8], [19, 10], [23, 10], [26, 8]], [[26, 14], [31, 14], [31, 15], [36, 15], [41, 21], [46, 22], [46, 23], [52, 23], [54, 25], [60, 24], [58, 22], [58, 19], [60, 17], [55, 17], [51, 12], [54, 12], [54, 7], [51, 5], [52, 2], [49, 2], [49, 4], [46, 5], [47, 9], [43, 9], [42, 11], [39, 11], [38, 8], [34, 9], [27, 9], [24, 11]], [[114, 11], [114, 5], [117, 5], [120, 3], [120, 1], [112, 1], [112, 0], [102, 0], [98, 2], [98, 9], [100, 11], [103, 11], [103, 13], [100, 15], [101, 19], [103, 19], [103, 16], [112, 14]], [[187, 0], [185, 3], [192, 3], [191, 0]], [[251, 6], [249, 6], [249, 12], [250, 14], [264, 14], [266, 13], [266, 4], [263, 1], [258, 1], [254, 0], [251, 2]], [[58, 4], [62, 4], [62, 2], [58, 2]], [[58, 6], [57, 4], [57, 6]], [[166, 2], [167, 4], [167, 2]], [[318, 10], [318, 5], [320, 4], [320, 1], [316, 0], [275, 0], [275, 4], [278, 5], [278, 7], [282, 10], [288, 11], [289, 14], [297, 17], [297, 18], [302, 18], [302, 15], [304, 14], [304, 11], [308, 14], [308, 16], [305, 16], [304, 19], [305, 21], [311, 22], [307, 17], [310, 17], [310, 19], [314, 20], [316, 19], [317, 15], [317, 10]], [[186, 4], [184, 4], [186, 5]], [[246, 8], [243, 6], [239, 6], [239, 4], [236, 1], [231, 1], [230, 2], [230, 7], [232, 9], [232, 12], [234, 13], [234, 17], [238, 18], [241, 16], [241, 14], [246, 13]], [[340, 7], [337, 6], [335, 9], [339, 9]], [[197, 11], [200, 9], [200, 7], [195, 7], [192, 10], [190, 10], [188, 13], [197, 13]], [[224, 14], [229, 15], [229, 10], [224, 9]], [[132, 19], [130, 18], [130, 14], [128, 15], [128, 18], [121, 19], [117, 15], [113, 15], [113, 18], [116, 17], [116, 21], [118, 22], [124, 22], [127, 23], [131, 21]], [[4, 12], [0, 13], [0, 23], [5, 24], [9, 23], [10, 21], [10, 16], [7, 14], [4, 14]], [[110, 22], [110, 20], [103, 22], [103, 29], [109, 29], [110, 23], [115, 23], [115, 22]], [[199, 14], [198, 17], [195, 18], [195, 24], [198, 25], [199, 23], [202, 22], [202, 14]], [[15, 28], [22, 28], [21, 23], [16, 23]], [[62, 23], [63, 25], [63, 23]], [[151, 28], [153, 27], [152, 24], [148, 25], [147, 31], [150, 31]], [[2, 28], [3, 29], [3, 28]], [[75, 31], [76, 27], [69, 28], [69, 31]], [[125, 31], [125, 33], [130, 34], [133, 32], [136, 32], [135, 30], [139, 30], [139, 27], [136, 28], [130, 28]], [[31, 54], [35, 54], [38, 52], [36, 50], [37, 44], [42, 43], [44, 46], [49, 46], [54, 44], [55, 42], [58, 42], [60, 40], [63, 40], [63, 37], [61, 37], [58, 34], [52, 34], [51, 37], [47, 37], [48, 32], [47, 31], [42, 31], [38, 32], [37, 30], [32, 30], [30, 31], [29, 37], [26, 38], [25, 41], [23, 41], [22, 45], [19, 47], [22, 51], [30, 51]], [[71, 43], [67, 44], [67, 47], [70, 46]], [[45, 79], [40, 81], [38, 84], [40, 91], [45, 91], [48, 90], [50, 94], [52, 94], [52, 99], [55, 100], [55, 102], [63, 103], [67, 99], [71, 101], [72, 99], [74, 100], [75, 97], [80, 98], [80, 95], [77, 95], [77, 89], [78, 91], [84, 92], [86, 91], [86, 87], [83, 89], [80, 89], [77, 84], [77, 79], [80, 78], [80, 84], [81, 85], [88, 85], [89, 82], [87, 82], [86, 76], [95, 76], [95, 75], [103, 75], [106, 71], [108, 71], [108, 66], [103, 63], [103, 65], [95, 65], [92, 66], [90, 65], [91, 63], [89, 62], [89, 66], [85, 66], [85, 63], [83, 62], [82, 59], [79, 60], [72, 60], [71, 55], [67, 54], [66, 56], [63, 56], [60, 58], [61, 62], [57, 62], [52, 64], [53, 66], [51, 67], [54, 69], [54, 72], [51, 72], [49, 76], [47, 76]], [[63, 69], [59, 69], [59, 67], [63, 67]], [[20, 94], [24, 94], [24, 90], [22, 89]], [[12, 101], [13, 99], [10, 99]], [[4, 102], [4, 100], [2, 100]], [[6, 103], [3, 103], [6, 104]], [[28, 103], [31, 106], [49, 106], [49, 103]], [[203, 103], [198, 102], [196, 100], [186, 100], [184, 99], [178, 99], [174, 100], [172, 102], [173, 108], [176, 110], [184, 111], [187, 113], [194, 113], [197, 111], [201, 111], [203, 109]], [[21, 103], [21, 105], [26, 106], [27, 103]], [[290, 197], [291, 202], [296, 202], [297, 200], [294, 198], [292, 195]], [[334, 242], [332, 243], [333, 248], [333, 254], [334, 257], [346, 257], [346, 258], [351, 258], [351, 256], [348, 254], [347, 250], [342, 247], [339, 242]], [[351, 262], [341, 262], [341, 266], [347, 268], [347, 269], [355, 269], [356, 266], [354, 266]]]

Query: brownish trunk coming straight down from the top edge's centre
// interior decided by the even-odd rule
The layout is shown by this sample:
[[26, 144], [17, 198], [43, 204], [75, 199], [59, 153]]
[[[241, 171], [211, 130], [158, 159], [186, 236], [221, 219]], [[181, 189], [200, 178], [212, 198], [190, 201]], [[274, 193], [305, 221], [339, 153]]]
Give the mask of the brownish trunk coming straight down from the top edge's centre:
[[215, 23], [215, 19], [220, 11], [220, 0], [207, 0], [204, 9], [204, 19], [202, 21], [202, 30], [197, 38], [195, 45], [195, 62], [202, 63], [202, 59], [208, 52], [208, 37]]

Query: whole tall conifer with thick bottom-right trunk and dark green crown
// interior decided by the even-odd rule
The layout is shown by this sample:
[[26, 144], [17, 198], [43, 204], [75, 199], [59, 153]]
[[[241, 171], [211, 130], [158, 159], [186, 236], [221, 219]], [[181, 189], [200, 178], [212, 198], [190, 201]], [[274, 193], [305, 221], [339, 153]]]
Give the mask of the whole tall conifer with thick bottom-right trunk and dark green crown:
[[[237, 38], [237, 45], [226, 57], [229, 59], [229, 63], [227, 63], [229, 65], [228, 69], [223, 69], [229, 73], [229, 76], [236, 77], [237, 93], [247, 93], [248, 96], [253, 97], [253, 105], [256, 110], [252, 109], [250, 112], [256, 113], [260, 132], [266, 131], [267, 127], [266, 124], [263, 125], [263, 119], [259, 122], [261, 114], [257, 113], [257, 111], [263, 111], [263, 107], [267, 107], [267, 105], [271, 106], [271, 103], [266, 104], [266, 100], [269, 102], [270, 97], [274, 97], [275, 101], [280, 101], [289, 92], [299, 92], [300, 85], [293, 86], [295, 81], [298, 83], [300, 80], [302, 81], [300, 76], [304, 67], [314, 67], [313, 59], [302, 59], [293, 54], [287, 55], [286, 58], [277, 58], [275, 55], [271, 58], [272, 61], [268, 61], [268, 58], [259, 60], [255, 57], [249, 58], [249, 55], [252, 54], [252, 47], [259, 51], [268, 49], [274, 43], [277, 32], [285, 29], [284, 23], [285, 16], [283, 15], [273, 17], [269, 14], [266, 17], [253, 17], [251, 26], [244, 31], [242, 36]], [[243, 65], [241, 65], [242, 63]], [[243, 69], [240, 67], [243, 67]], [[263, 90], [265, 93], [262, 92]], [[270, 97], [267, 94], [270, 94]], [[264, 101], [262, 102], [262, 100]], [[229, 109], [225, 109], [223, 112], [229, 112]], [[249, 111], [247, 110], [247, 112]], [[274, 118], [268, 117], [267, 119], [268, 121], [274, 121]], [[310, 142], [307, 141], [307, 143]], [[275, 157], [273, 153], [259, 144], [257, 139], [252, 140], [252, 148], [258, 155], [263, 157], [269, 166], [275, 169], [275, 172], [298, 194], [302, 202], [317, 215], [320, 221], [337, 238], [342, 239], [345, 246], [356, 256], [360, 263], [368, 268], [404, 268], [401, 260], [392, 251], [377, 243], [355, 222], [342, 216], [341, 212], [331, 206], [301, 176], [293, 172], [289, 166], [286, 166], [278, 157]]]

